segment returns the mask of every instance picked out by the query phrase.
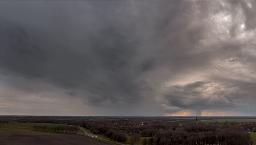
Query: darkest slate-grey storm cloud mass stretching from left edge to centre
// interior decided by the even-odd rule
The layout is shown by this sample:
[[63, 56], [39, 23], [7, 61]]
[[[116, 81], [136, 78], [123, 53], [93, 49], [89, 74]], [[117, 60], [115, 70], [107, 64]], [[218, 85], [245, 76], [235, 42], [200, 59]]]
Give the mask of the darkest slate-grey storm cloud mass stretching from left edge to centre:
[[[136, 67], [131, 62], [136, 42], [127, 42], [116, 31], [110, 27], [100, 30], [99, 36], [90, 34], [89, 43], [81, 46], [79, 52], [54, 52], [33, 45], [25, 30], [13, 26], [11, 33], [4, 35], [1, 66], [9, 73], [38, 77], [66, 88], [86, 87], [90, 94], [113, 97], [112, 101], [123, 95], [136, 99], [140, 85], [134, 79], [141, 73], [139, 65], [131, 69]], [[124, 99], [129, 101], [129, 97]]]

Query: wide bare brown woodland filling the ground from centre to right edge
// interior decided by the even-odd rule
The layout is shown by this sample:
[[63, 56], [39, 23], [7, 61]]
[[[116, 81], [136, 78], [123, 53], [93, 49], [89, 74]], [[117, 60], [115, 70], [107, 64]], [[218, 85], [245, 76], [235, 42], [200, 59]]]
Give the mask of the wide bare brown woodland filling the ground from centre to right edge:
[[[87, 122], [87, 129], [94, 133], [106, 134], [117, 141], [125, 141], [124, 133], [131, 143], [143, 145], [251, 145], [249, 133], [243, 127], [253, 127], [254, 123], [211, 123], [196, 124], [158, 122], [152, 125], [124, 125], [123, 123]], [[111, 127], [112, 126], [112, 127]], [[111, 128], [111, 129], [110, 129]], [[111, 132], [111, 133], [110, 133]], [[140, 137], [150, 137], [140, 140]]]

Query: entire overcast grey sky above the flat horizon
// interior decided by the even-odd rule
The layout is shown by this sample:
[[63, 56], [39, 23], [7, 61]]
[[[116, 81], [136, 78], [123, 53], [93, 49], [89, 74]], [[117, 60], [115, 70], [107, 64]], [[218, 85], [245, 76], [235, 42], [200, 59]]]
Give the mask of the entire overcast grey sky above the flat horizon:
[[0, 115], [255, 110], [255, 0], [0, 1]]

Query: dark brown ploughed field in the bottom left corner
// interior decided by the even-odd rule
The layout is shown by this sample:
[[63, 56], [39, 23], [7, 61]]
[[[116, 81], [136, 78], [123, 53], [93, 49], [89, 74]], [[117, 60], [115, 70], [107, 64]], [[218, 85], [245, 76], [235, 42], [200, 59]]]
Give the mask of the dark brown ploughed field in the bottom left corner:
[[110, 145], [77, 134], [57, 134], [0, 128], [0, 145]]

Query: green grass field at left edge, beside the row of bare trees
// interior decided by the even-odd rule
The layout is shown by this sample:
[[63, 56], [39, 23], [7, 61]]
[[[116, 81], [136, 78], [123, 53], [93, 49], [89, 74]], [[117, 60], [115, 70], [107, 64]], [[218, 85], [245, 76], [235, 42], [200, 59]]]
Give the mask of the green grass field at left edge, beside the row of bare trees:
[[2, 123], [1, 128], [33, 130], [34, 125], [46, 125], [47, 127], [66, 126], [65, 124], [55, 124], [55, 123]]

